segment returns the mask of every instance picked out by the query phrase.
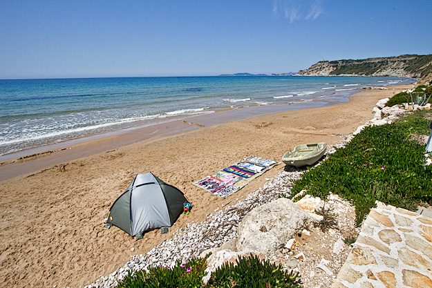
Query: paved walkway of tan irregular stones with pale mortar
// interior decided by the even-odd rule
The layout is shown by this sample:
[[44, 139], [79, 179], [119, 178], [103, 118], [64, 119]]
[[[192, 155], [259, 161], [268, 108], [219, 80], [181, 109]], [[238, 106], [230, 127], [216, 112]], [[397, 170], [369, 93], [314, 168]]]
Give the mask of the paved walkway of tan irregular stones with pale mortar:
[[432, 287], [432, 218], [378, 202], [332, 288]]

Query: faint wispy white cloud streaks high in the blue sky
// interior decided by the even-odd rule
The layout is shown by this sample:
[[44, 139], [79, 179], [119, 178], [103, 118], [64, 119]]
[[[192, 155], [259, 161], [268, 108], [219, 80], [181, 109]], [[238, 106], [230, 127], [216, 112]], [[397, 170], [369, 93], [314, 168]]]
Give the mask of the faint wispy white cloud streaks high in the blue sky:
[[290, 23], [297, 20], [313, 20], [321, 15], [321, 2], [321, 0], [274, 0], [273, 14], [283, 15]]

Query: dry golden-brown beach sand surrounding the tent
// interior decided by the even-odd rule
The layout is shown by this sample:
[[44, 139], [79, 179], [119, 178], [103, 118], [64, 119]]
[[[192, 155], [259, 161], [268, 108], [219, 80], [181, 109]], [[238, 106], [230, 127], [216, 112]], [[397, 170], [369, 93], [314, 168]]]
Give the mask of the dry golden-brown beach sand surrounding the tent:
[[[146, 253], [171, 238], [173, 231], [187, 222], [203, 221], [216, 207], [244, 198], [284, 165], [267, 171], [225, 200], [191, 182], [250, 155], [280, 160], [297, 144], [339, 142], [337, 135], [353, 133], [373, 117], [372, 108], [379, 99], [412, 86], [365, 90], [350, 102], [335, 106], [194, 126], [191, 131], [111, 151], [108, 144], [104, 146], [108, 152], [80, 159], [76, 153], [76, 160], [69, 162], [64, 162], [67, 158], [62, 159], [62, 153], [50, 153], [63, 164], [29, 174], [37, 169], [30, 157], [22, 164], [24, 175], [1, 182], [1, 287], [88, 285], [122, 267], [131, 255]], [[100, 147], [100, 141], [86, 145]], [[44, 157], [35, 158], [41, 161]], [[7, 171], [8, 165], [12, 164], [3, 163], [1, 171]], [[181, 215], [169, 233], [150, 231], [139, 241], [117, 227], [105, 229], [104, 218], [113, 201], [137, 173], [149, 171], [180, 188], [195, 205], [192, 212]]]

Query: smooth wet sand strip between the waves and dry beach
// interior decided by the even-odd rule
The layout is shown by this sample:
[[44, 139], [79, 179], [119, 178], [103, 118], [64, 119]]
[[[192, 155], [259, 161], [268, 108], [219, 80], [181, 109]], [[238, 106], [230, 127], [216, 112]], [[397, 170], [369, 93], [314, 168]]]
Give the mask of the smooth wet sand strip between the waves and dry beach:
[[[0, 182], [21, 175], [29, 175], [64, 162], [78, 160], [98, 153], [104, 153], [129, 144], [149, 141], [203, 128], [235, 122], [252, 117], [270, 115], [286, 111], [332, 106], [349, 101], [341, 97], [337, 102], [313, 100], [294, 104], [273, 104], [267, 106], [247, 106], [227, 109], [215, 113], [179, 117], [168, 122], [157, 122], [143, 126], [119, 129], [107, 133], [68, 140], [58, 144], [48, 144], [29, 148], [17, 153], [0, 156]], [[31, 164], [26, 164], [31, 163]]]

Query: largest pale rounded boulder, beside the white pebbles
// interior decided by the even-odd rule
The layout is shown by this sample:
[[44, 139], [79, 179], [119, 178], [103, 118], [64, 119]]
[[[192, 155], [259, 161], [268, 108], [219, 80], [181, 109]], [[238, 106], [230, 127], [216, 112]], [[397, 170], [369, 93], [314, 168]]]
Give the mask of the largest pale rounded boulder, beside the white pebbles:
[[[237, 251], [252, 250], [269, 255], [312, 222], [311, 215], [286, 198], [263, 204], [247, 213], [238, 225]], [[267, 227], [266, 232], [260, 230], [262, 226]]]

